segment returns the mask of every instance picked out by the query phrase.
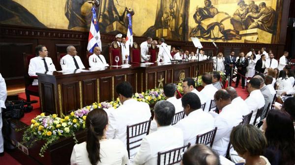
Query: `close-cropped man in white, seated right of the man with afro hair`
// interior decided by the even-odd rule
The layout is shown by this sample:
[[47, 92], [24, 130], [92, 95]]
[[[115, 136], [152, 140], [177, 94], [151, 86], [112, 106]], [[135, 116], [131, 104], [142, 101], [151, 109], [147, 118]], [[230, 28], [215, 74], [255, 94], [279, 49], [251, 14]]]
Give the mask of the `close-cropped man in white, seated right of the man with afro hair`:
[[226, 90], [218, 90], [214, 95], [214, 100], [221, 113], [214, 121], [217, 131], [212, 149], [219, 155], [225, 156], [232, 129], [242, 121], [242, 114], [235, 104], [231, 104], [231, 95]]

